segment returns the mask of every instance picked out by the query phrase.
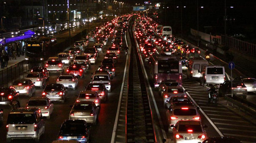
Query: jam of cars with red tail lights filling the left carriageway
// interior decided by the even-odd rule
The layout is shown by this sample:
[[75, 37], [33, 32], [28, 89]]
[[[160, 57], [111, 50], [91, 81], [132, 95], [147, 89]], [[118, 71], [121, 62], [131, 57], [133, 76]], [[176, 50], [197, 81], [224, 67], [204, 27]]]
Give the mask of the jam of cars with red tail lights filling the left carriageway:
[[[1, 104], [11, 106], [7, 119], [3, 116], [5, 110], [0, 109], [1, 121], [7, 120], [6, 142], [22, 141], [20, 139], [44, 142], [41, 136], [49, 130], [47, 122], [59, 114], [54, 111], [55, 106], [63, 108], [71, 101], [74, 102], [68, 117], [54, 138], [91, 142], [91, 127], [98, 124], [100, 111], [103, 108], [102, 112], [106, 112], [106, 103], [118, 92], [115, 78], [119, 78], [117, 73], [122, 76], [123, 67], [118, 66], [123, 61], [119, 58], [128, 53], [123, 39], [130, 17], [120, 16], [95, 27], [70, 48], [32, 67], [25, 78], [0, 88]], [[71, 100], [72, 90], [78, 93]]]

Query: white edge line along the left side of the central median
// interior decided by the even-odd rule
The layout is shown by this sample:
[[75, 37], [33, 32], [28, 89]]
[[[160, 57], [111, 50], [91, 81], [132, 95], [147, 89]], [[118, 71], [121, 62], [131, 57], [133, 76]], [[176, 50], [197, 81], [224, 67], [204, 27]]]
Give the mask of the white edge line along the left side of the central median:
[[[126, 41], [126, 45], [127, 45], [126, 34], [125, 34], [125, 41]], [[129, 55], [130, 54], [128, 53], [127, 56], [126, 56], [125, 69], [124, 69], [124, 74], [123, 74], [123, 82], [122, 82], [121, 91], [120, 91], [120, 95], [119, 95], [119, 101], [118, 101], [118, 106], [117, 106], [117, 114], [116, 114], [116, 119], [114, 121], [114, 128], [113, 128], [111, 143], [114, 143], [115, 136], [116, 136], [116, 133], [117, 133], [117, 122], [118, 122], [118, 116], [119, 116], [119, 111], [120, 111], [120, 106], [121, 106], [122, 95], [123, 95], [123, 86], [124, 86], [124, 83], [125, 83], [125, 74], [126, 74], [126, 68], [127, 68], [128, 56]]]

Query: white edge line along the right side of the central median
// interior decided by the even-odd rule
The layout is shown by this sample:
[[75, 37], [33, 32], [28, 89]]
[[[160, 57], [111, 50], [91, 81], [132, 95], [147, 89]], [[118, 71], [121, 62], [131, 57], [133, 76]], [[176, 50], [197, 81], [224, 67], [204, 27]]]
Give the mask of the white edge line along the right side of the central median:
[[[136, 42], [136, 48], [139, 49], [139, 45], [138, 45], [138, 43], [137, 43], [137, 40], [136, 40], [135, 38], [134, 38], [134, 40], [135, 40], [135, 42]], [[155, 111], [156, 111], [156, 114], [157, 114], [157, 117], [158, 117], [158, 120], [159, 120], [159, 124], [160, 124], [161, 130], [162, 130], [162, 132], [163, 132], [163, 138], [167, 138], [166, 132], [163, 130], [163, 122], [162, 122], [160, 113], [159, 113], [159, 111], [158, 111], [157, 104], [156, 104], [156, 102], [155, 102], [155, 97], [154, 97], [154, 94], [153, 94], [153, 91], [152, 91], [152, 88], [151, 88], [149, 79], [148, 79], [148, 77], [147, 77], [147, 72], [146, 72], [146, 69], [145, 69], [145, 66], [144, 66], [144, 63], [143, 63], [141, 54], [139, 54], [139, 57], [140, 57], [140, 61], [141, 61], [141, 64], [142, 64], [142, 67], [143, 67], [143, 70], [144, 70], [145, 77], [146, 77], [146, 79], [147, 79], [148, 87], [149, 87], [149, 89], [150, 89], [150, 95], [151, 95], [151, 97], [152, 97], [152, 99], [153, 99], [153, 103], [154, 103], [154, 106], [155, 106]], [[151, 105], [150, 105], [150, 104], [149, 104], [149, 106], [150, 106], [150, 109], [151, 109]], [[152, 110], [151, 110], [151, 111], [152, 111]], [[158, 126], [155, 126], [155, 127], [158, 129]], [[158, 130], [156, 130], [156, 131], [158, 132]], [[158, 135], [160, 135], [159, 132], [158, 132]], [[159, 142], [161, 142], [161, 141], [159, 140]]]

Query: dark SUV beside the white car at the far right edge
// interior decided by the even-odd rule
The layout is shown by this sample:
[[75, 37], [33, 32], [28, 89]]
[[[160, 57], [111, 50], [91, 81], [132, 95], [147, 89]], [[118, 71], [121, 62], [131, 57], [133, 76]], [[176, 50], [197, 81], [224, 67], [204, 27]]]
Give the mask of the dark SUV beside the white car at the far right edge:
[[220, 96], [231, 95], [231, 90], [234, 96], [242, 96], [242, 98], [246, 99], [247, 87], [241, 80], [233, 80], [232, 85], [231, 80], [226, 80], [225, 82], [221, 83], [218, 94]]

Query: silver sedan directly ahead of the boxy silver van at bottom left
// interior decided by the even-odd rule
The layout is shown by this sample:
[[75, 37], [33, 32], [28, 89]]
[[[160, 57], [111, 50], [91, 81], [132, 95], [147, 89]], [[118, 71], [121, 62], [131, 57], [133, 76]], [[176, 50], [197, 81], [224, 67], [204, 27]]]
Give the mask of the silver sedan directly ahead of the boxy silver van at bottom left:
[[53, 102], [47, 97], [32, 97], [26, 108], [39, 108], [43, 117], [50, 119], [53, 111]]

